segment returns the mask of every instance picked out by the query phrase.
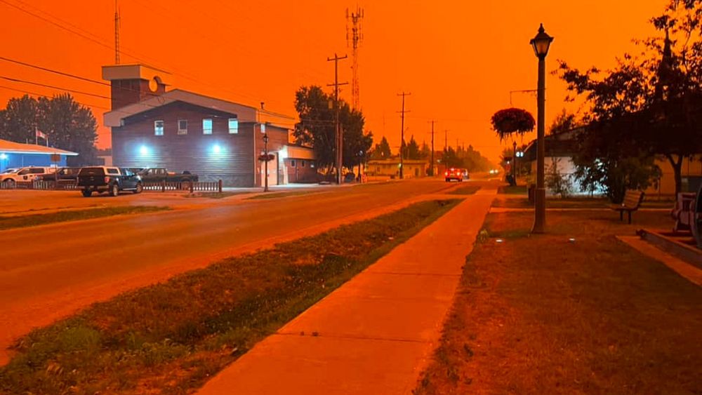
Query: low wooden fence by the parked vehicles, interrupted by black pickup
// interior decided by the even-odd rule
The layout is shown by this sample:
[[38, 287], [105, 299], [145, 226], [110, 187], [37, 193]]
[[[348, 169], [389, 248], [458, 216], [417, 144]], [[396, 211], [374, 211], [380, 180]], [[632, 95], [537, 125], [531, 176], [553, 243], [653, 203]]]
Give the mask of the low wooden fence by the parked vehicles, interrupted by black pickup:
[[[187, 192], [222, 192], [223, 182], [218, 181], [161, 181], [145, 182], [144, 191], [166, 192], [166, 191], [187, 191]], [[64, 181], [27, 181], [27, 182], [0, 182], [0, 189], [38, 189], [43, 191], [69, 191], [78, 189], [76, 182], [72, 180]]]

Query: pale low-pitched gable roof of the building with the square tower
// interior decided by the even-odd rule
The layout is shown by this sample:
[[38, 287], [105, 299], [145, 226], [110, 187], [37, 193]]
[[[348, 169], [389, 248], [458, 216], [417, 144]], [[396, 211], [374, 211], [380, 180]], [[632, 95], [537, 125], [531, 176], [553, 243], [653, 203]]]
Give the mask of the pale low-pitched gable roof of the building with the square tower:
[[227, 100], [211, 98], [209, 96], [199, 95], [198, 93], [192, 93], [180, 89], [173, 89], [173, 91], [168, 91], [163, 95], [143, 100], [132, 105], [127, 105], [119, 109], [113, 109], [112, 111], [105, 113], [103, 120], [105, 122], [105, 126], [122, 126], [122, 120], [130, 116], [147, 112], [150, 109], [168, 105], [173, 102], [185, 102], [191, 105], [197, 105], [199, 107], [234, 114], [237, 116], [237, 119], [239, 119], [239, 122], [270, 123], [272, 126], [279, 126], [282, 128], [292, 128], [294, 123], [296, 123], [296, 118], [293, 116], [278, 114], [276, 112], [258, 109], [249, 105], [241, 105], [239, 103], [229, 102]]

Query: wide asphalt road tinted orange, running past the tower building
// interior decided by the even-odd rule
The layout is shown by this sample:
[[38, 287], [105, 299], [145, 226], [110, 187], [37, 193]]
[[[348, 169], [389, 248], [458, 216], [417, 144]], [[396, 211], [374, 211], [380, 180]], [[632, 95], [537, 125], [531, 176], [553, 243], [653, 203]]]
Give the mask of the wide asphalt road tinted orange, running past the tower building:
[[439, 180], [333, 187], [281, 199], [225, 199], [185, 210], [2, 231], [0, 364], [15, 338], [92, 302], [447, 187]]

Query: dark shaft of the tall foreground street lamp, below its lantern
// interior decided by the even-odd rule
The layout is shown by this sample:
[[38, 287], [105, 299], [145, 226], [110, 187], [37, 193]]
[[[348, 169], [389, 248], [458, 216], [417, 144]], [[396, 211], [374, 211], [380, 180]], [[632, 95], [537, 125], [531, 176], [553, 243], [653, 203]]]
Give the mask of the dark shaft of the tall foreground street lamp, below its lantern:
[[538, 116], [536, 123], [536, 195], [534, 204], [534, 227], [531, 233], [543, 233], [546, 225], [546, 188], [545, 178], [545, 104], [546, 104], [546, 61], [545, 55], [538, 58], [538, 92], [536, 102]]

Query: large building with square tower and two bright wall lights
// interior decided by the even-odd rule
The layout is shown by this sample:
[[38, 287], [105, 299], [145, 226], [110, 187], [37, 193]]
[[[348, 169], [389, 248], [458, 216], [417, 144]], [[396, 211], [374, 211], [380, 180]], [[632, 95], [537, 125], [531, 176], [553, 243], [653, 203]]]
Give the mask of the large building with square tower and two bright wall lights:
[[292, 116], [180, 89], [167, 91], [168, 74], [144, 65], [105, 66], [102, 78], [112, 85], [112, 111], [104, 121], [112, 128], [115, 166], [188, 170], [227, 186], [260, 186], [264, 133], [274, 156], [268, 162], [269, 185], [295, 182], [289, 179], [290, 164], [310, 161], [311, 149], [288, 149]]

